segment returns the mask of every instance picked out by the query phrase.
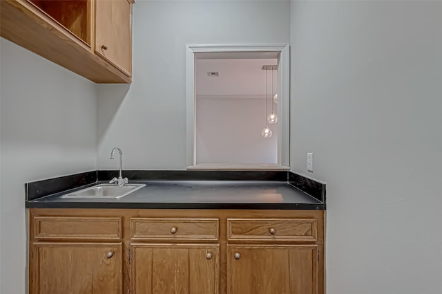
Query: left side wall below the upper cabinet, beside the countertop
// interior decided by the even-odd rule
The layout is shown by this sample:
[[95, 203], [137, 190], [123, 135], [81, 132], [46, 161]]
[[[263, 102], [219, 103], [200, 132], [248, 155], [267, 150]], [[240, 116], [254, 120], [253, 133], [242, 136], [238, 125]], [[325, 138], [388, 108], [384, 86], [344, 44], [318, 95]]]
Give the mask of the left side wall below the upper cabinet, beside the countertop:
[[95, 84], [1, 39], [1, 294], [26, 293], [23, 183], [96, 169]]

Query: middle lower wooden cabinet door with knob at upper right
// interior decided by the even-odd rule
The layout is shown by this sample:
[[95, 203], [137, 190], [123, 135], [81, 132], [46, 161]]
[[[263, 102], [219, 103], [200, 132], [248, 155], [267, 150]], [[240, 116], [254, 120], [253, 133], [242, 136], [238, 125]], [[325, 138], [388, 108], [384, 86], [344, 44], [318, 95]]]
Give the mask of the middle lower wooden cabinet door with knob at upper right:
[[218, 294], [219, 246], [133, 244], [132, 294]]

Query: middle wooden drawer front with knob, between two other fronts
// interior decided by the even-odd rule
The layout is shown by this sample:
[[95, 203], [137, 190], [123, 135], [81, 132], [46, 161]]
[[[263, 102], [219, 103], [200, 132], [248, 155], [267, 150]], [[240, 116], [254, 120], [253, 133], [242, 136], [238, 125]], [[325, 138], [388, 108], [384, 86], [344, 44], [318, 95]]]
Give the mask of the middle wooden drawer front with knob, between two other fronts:
[[218, 219], [131, 219], [133, 240], [218, 240]]

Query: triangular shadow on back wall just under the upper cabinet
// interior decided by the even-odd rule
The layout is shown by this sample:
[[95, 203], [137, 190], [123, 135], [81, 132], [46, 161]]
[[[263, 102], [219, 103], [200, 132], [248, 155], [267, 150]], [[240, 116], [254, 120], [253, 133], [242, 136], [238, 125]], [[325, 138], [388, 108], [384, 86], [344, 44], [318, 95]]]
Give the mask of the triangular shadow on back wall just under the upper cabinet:
[[131, 84], [97, 85], [97, 142], [102, 140], [129, 89]]

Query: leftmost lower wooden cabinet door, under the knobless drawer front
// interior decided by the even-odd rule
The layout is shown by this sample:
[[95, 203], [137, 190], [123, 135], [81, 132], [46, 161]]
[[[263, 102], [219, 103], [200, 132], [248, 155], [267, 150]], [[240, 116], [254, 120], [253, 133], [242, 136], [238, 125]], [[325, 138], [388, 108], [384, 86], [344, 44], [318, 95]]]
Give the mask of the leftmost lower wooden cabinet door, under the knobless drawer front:
[[121, 294], [122, 245], [35, 243], [31, 294]]

